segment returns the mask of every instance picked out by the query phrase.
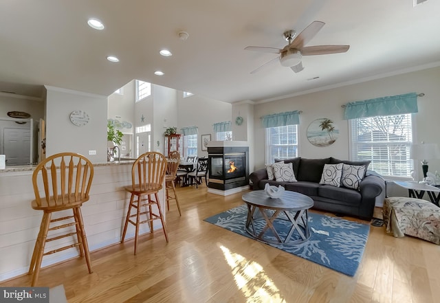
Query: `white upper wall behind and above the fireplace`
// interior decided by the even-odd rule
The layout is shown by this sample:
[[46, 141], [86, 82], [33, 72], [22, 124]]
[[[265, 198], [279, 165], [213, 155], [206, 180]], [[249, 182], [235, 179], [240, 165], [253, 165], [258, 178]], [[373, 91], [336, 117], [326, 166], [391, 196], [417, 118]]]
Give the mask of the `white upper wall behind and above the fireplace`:
[[232, 104], [193, 95], [183, 98], [182, 92], [177, 93], [177, 131], [188, 126], [199, 128], [197, 137], [197, 155], [208, 157], [207, 151], [201, 150], [201, 135], [211, 134], [211, 140], [215, 141], [213, 124], [232, 120]]

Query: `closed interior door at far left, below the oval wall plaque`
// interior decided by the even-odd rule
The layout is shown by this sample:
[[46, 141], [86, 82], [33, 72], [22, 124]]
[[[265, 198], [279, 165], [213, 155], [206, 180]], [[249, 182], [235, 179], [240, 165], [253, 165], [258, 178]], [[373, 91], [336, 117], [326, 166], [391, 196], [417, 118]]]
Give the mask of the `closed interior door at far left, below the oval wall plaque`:
[[3, 128], [3, 148], [6, 165], [30, 164], [30, 129]]

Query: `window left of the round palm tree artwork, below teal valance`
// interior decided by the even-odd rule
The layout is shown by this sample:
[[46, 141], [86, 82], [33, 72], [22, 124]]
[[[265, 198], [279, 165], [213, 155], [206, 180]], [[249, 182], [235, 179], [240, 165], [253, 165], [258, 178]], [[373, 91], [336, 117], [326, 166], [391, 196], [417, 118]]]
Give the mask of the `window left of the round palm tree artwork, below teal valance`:
[[298, 125], [266, 128], [266, 163], [298, 157]]

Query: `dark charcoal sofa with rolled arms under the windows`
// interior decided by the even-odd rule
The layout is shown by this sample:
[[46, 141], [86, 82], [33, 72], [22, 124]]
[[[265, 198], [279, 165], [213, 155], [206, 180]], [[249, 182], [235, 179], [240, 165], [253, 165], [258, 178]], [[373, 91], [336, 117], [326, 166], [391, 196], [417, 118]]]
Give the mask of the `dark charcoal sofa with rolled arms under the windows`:
[[[332, 212], [338, 215], [348, 215], [371, 220], [376, 201], [382, 204], [385, 199], [385, 181], [380, 175], [368, 170], [369, 161], [344, 161], [333, 157], [325, 159], [276, 159], [285, 163], [292, 162], [297, 182], [268, 180], [266, 168], [255, 170], [250, 174], [253, 190], [263, 190], [266, 183], [273, 186], [281, 185], [285, 190], [305, 194], [314, 199], [316, 210]], [[321, 185], [320, 178], [325, 164], [365, 165], [366, 175], [360, 182], [359, 190], [351, 188]]]

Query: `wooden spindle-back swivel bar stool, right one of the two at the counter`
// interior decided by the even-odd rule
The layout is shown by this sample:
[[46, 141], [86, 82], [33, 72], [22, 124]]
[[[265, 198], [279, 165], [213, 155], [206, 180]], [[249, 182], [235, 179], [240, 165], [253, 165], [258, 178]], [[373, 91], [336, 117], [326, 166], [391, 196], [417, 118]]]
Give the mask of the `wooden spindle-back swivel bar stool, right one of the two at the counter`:
[[[131, 168], [131, 186], [125, 187], [125, 190], [130, 192], [131, 197], [129, 210], [126, 213], [121, 243], [124, 243], [129, 223], [135, 225], [135, 254], [137, 253], [139, 227], [142, 223], [148, 223], [150, 232], [153, 233], [153, 221], [160, 220], [166, 242], [168, 242], [168, 234], [166, 233], [164, 216], [158, 194], [159, 190], [162, 190], [163, 187], [166, 169], [167, 161], [165, 156], [157, 152], [147, 152], [140, 155]], [[154, 199], [151, 197], [153, 195]], [[153, 206], [155, 206], [157, 210], [153, 209]], [[143, 212], [141, 212], [141, 207], [145, 207]], [[131, 214], [132, 209], [136, 210], [134, 214]], [[146, 220], [141, 221], [141, 215], [146, 215]], [[134, 218], [134, 221], [132, 218]]]

